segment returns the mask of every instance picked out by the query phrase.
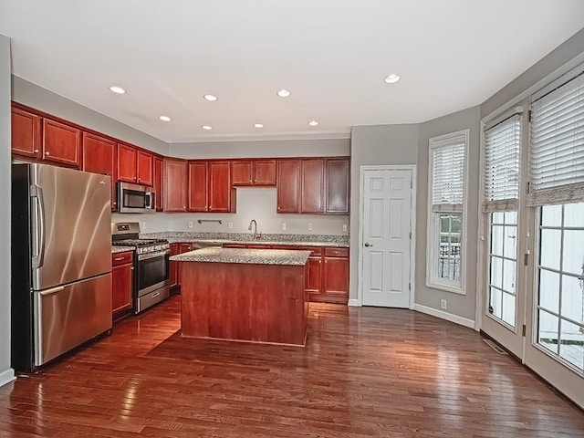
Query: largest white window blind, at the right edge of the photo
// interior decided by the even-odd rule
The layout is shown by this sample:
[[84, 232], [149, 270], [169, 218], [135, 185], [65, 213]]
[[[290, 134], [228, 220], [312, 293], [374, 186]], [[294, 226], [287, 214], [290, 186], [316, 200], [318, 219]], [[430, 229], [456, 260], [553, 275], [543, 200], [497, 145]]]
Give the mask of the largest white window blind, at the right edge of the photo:
[[529, 205], [584, 201], [584, 76], [531, 104]]

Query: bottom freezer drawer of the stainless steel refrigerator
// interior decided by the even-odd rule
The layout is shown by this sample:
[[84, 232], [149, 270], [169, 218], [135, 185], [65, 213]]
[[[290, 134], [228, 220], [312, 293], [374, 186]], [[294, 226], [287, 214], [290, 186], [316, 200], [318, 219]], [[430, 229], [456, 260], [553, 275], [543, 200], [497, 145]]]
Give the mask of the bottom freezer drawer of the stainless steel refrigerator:
[[111, 328], [111, 274], [34, 294], [35, 366]]

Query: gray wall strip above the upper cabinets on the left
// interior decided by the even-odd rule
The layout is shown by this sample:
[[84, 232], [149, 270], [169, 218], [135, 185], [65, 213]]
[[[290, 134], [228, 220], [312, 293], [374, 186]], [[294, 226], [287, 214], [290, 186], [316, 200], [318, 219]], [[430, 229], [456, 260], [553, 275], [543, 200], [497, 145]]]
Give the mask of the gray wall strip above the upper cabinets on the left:
[[97, 130], [118, 140], [128, 141], [149, 151], [168, 155], [168, 144], [164, 141], [155, 139], [140, 130], [130, 128], [130, 126], [124, 125], [118, 120], [110, 119], [97, 111], [89, 110], [89, 108], [79, 105], [73, 100], [59, 96], [48, 89], [38, 87], [23, 78], [16, 76], [12, 78], [12, 99], [16, 102], [78, 123], [90, 130]]

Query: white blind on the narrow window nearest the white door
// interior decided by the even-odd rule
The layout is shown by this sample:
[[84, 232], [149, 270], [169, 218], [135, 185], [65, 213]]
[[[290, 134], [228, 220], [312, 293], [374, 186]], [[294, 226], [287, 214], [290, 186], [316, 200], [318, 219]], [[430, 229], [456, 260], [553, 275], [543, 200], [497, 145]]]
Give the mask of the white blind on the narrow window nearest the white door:
[[463, 212], [465, 149], [464, 134], [430, 139], [434, 213]]

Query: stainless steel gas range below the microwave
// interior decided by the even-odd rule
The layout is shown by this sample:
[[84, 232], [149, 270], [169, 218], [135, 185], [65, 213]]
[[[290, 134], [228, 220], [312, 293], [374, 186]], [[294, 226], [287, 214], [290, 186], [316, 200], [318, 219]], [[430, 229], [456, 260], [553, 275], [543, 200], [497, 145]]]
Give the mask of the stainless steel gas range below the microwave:
[[134, 248], [134, 313], [141, 313], [170, 296], [168, 240], [139, 236], [137, 222], [111, 224], [111, 245]]

